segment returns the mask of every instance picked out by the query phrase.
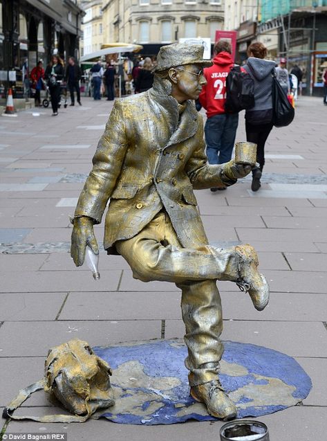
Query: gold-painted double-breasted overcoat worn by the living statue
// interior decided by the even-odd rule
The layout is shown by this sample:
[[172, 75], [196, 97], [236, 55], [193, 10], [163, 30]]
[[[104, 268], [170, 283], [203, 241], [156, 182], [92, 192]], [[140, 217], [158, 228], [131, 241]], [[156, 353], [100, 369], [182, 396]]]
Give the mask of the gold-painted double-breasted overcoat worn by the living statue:
[[162, 80], [116, 100], [77, 202], [75, 216], [99, 224], [110, 199], [104, 249], [135, 236], [165, 208], [180, 244], [207, 244], [193, 189], [231, 185], [222, 165], [209, 165], [203, 118], [189, 100], [183, 113]]

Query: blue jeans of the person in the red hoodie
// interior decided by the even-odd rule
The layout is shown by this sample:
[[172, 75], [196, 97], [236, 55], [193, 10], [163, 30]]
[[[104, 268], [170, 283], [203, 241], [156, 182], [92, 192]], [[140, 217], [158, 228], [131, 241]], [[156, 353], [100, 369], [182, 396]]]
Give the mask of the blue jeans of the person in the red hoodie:
[[230, 161], [238, 125], [239, 114], [220, 114], [207, 118], [205, 143], [209, 164]]

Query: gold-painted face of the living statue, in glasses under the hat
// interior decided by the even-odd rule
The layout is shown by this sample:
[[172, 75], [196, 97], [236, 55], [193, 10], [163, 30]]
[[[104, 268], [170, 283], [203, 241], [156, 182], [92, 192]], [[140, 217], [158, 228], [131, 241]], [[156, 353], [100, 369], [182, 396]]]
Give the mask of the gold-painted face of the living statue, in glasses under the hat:
[[207, 84], [203, 68], [199, 64], [186, 64], [174, 68], [176, 71], [176, 89], [185, 100], [197, 100], [202, 87]]

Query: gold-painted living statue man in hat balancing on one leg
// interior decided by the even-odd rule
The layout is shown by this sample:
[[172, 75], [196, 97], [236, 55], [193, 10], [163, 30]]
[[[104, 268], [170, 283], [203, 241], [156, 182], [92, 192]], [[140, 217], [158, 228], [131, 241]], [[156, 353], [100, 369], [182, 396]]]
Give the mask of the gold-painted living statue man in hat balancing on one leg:
[[236, 406], [218, 381], [223, 354], [221, 298], [216, 280], [232, 280], [263, 309], [269, 288], [250, 245], [210, 246], [193, 190], [226, 187], [250, 165], [209, 165], [203, 119], [194, 100], [206, 80], [203, 46], [171, 44], [158, 53], [153, 88], [116, 100], [93, 157], [73, 219], [71, 255], [84, 262], [86, 244], [98, 253], [93, 224], [106, 205], [104, 249], [120, 254], [143, 282], [174, 282], [182, 315], [191, 396], [218, 418]]

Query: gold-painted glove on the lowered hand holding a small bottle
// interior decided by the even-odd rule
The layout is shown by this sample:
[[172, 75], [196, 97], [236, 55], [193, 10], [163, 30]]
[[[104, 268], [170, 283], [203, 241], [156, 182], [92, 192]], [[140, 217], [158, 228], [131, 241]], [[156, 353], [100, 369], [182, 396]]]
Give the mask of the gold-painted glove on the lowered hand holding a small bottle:
[[90, 246], [95, 254], [99, 254], [99, 248], [91, 217], [74, 217], [71, 219], [71, 223], [74, 226], [71, 233], [71, 257], [76, 267], [80, 267], [84, 263], [86, 245]]

